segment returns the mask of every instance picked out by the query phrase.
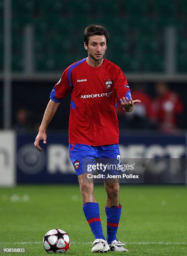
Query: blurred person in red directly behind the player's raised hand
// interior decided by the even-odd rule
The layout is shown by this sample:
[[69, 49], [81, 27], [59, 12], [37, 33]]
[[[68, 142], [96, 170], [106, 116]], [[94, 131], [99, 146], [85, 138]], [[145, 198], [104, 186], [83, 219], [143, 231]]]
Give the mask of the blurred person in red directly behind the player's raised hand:
[[117, 114], [119, 118], [119, 126], [129, 129], [148, 129], [153, 128], [152, 123], [152, 100], [146, 93], [146, 86], [144, 84], [135, 84], [132, 87], [132, 99], [138, 97], [141, 104], [136, 105], [134, 111], [125, 114], [121, 105], [117, 105]]

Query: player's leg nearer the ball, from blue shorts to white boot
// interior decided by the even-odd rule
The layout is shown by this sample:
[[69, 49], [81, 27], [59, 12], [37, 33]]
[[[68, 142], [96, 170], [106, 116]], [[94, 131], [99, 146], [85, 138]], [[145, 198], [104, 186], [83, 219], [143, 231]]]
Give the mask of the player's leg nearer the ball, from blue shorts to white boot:
[[94, 160], [97, 157], [96, 152], [93, 147], [81, 144], [70, 144], [69, 151], [70, 159], [78, 176], [83, 200], [83, 212], [85, 214], [86, 220], [88, 221], [88, 224], [90, 225], [91, 231], [95, 236], [95, 241], [93, 242], [93, 248], [91, 251], [109, 251], [110, 248], [105, 241], [101, 226], [99, 204], [97, 203], [96, 198], [93, 195], [93, 182], [91, 181], [91, 179], [87, 178], [88, 173], [83, 170], [85, 169], [85, 164], [82, 160], [84, 158], [90, 158], [90, 156], [90, 160]]

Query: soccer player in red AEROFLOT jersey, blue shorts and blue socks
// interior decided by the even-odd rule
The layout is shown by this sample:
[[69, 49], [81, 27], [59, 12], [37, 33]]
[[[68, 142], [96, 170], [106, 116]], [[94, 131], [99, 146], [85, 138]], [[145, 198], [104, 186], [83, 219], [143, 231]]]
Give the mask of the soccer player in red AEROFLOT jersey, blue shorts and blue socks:
[[95, 237], [92, 252], [128, 251], [116, 238], [121, 216], [119, 182], [105, 182], [107, 194], [105, 240], [99, 215], [99, 204], [93, 195], [93, 182], [84, 182], [83, 158], [120, 156], [117, 100], [130, 112], [140, 100], [132, 100], [129, 85], [120, 67], [104, 59], [109, 35], [99, 25], [84, 30], [84, 48], [88, 57], [70, 65], [53, 88], [34, 145], [41, 151], [40, 140], [46, 143], [46, 129], [61, 100], [71, 93], [69, 118], [69, 156], [80, 184], [83, 212]]

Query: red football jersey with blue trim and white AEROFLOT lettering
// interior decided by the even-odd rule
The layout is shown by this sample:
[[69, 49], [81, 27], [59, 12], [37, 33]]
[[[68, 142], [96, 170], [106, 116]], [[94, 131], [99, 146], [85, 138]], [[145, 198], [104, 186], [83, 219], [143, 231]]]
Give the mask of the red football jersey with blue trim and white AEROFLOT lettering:
[[102, 146], [119, 143], [117, 99], [131, 97], [126, 77], [116, 64], [104, 59], [91, 67], [86, 58], [62, 74], [50, 98], [61, 102], [71, 93], [69, 143]]

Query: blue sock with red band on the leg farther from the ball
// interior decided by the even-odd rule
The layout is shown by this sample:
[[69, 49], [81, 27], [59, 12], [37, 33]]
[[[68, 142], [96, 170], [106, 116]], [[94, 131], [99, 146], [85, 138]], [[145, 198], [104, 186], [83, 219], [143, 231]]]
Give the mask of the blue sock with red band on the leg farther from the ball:
[[121, 216], [121, 205], [119, 207], [105, 207], [107, 219], [107, 242], [116, 240], [119, 220]]

